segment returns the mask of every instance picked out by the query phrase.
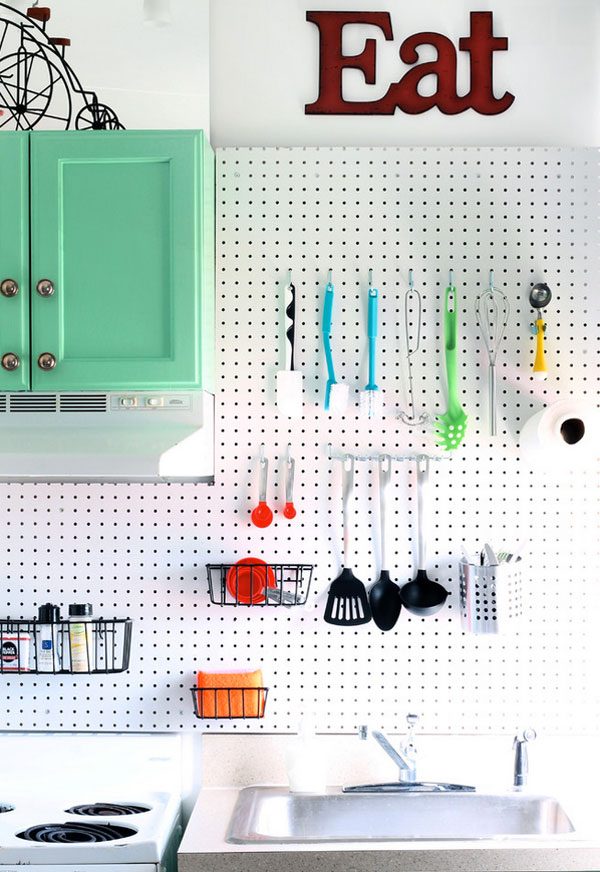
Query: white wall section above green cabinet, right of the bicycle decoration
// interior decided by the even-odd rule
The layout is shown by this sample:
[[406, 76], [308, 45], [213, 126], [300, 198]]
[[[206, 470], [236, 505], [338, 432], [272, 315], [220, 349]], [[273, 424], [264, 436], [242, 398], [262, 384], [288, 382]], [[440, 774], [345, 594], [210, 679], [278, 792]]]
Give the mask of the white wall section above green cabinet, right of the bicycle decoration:
[[[31, 5], [13, 0], [20, 12]], [[125, 127], [208, 129], [208, 0], [171, 0], [172, 24], [148, 26], [142, 0], [51, 0], [48, 33]]]

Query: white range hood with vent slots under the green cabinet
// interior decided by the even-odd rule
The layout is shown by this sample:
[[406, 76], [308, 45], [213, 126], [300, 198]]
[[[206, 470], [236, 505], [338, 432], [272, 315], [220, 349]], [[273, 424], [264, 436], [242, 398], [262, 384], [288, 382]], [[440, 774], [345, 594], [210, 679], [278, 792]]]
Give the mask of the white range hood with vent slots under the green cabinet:
[[214, 396], [0, 394], [0, 481], [214, 482]]

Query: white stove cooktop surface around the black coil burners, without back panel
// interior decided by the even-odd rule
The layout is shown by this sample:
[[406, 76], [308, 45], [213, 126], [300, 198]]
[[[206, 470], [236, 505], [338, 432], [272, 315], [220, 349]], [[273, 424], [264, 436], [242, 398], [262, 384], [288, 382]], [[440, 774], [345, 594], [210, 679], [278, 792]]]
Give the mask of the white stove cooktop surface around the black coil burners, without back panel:
[[[35, 788], [35, 785], [32, 785]], [[114, 868], [116, 864], [158, 863], [164, 856], [174, 827], [179, 821], [179, 797], [165, 793], [151, 793], [143, 796], [113, 793], [110, 796], [97, 795], [82, 790], [63, 790], [48, 796], [40, 784], [38, 795], [31, 789], [24, 791], [2, 788], [0, 805], [12, 805], [12, 811], [0, 814], [0, 869], [4, 865], [40, 866], [54, 864], [106, 864]], [[92, 803], [122, 803], [125, 805], [146, 805], [149, 810], [128, 815], [85, 816], [69, 814], [67, 810], [75, 805]], [[47, 824], [75, 825], [71, 838], [87, 838], [80, 835], [82, 825], [97, 827], [102, 833], [107, 827], [133, 830], [114, 841], [38, 843], [25, 841], [17, 835], [30, 827]]]

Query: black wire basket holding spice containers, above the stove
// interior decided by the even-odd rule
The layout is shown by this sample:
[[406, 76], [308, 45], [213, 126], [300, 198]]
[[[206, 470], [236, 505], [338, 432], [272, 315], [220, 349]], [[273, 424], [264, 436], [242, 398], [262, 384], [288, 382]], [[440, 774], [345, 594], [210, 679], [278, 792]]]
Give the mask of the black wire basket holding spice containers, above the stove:
[[132, 621], [0, 621], [0, 674], [109, 675], [125, 672]]

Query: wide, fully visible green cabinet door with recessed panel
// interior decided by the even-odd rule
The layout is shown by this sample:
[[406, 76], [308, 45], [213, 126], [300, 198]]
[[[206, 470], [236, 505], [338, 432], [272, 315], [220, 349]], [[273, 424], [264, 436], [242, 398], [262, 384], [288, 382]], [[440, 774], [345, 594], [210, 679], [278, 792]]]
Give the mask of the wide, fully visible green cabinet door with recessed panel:
[[55, 285], [32, 294], [34, 390], [205, 386], [205, 149], [196, 131], [32, 134], [32, 281]]

